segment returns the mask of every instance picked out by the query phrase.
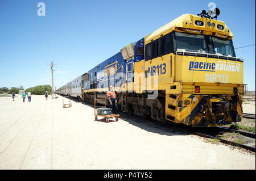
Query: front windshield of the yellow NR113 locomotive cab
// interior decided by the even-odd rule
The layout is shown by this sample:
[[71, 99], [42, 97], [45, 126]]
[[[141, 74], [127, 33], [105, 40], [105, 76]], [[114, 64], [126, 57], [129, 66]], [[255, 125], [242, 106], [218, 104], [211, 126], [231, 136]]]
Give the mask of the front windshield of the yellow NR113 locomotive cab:
[[220, 39], [209, 35], [194, 35], [176, 32], [177, 51], [221, 54], [236, 57], [233, 43], [230, 40]]

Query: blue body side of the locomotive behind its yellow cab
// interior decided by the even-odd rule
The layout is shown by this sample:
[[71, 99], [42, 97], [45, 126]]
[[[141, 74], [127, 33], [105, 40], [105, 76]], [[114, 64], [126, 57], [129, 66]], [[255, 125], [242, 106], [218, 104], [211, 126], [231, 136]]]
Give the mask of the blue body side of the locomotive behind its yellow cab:
[[[131, 44], [130, 44], [131, 45]], [[129, 45], [128, 45], [129, 46]], [[125, 60], [120, 52], [88, 71], [84, 89], [118, 87], [124, 82], [133, 82], [134, 62], [143, 59], [144, 38], [134, 43], [134, 57]], [[124, 78], [125, 75], [126, 78]]]

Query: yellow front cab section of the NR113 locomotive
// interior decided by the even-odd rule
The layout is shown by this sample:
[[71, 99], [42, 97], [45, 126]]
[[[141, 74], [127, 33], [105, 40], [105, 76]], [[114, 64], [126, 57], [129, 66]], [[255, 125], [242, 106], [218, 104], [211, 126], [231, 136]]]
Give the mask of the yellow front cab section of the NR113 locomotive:
[[[135, 72], [151, 75], [134, 87], [158, 74], [154, 88], [164, 95], [164, 118], [175, 123], [205, 127], [241, 121], [243, 61], [236, 57], [232, 39], [220, 20], [181, 15], [144, 38], [145, 59], [135, 63]], [[172, 50], [166, 48], [169, 41]], [[161, 112], [152, 112], [153, 119], [162, 119]]]

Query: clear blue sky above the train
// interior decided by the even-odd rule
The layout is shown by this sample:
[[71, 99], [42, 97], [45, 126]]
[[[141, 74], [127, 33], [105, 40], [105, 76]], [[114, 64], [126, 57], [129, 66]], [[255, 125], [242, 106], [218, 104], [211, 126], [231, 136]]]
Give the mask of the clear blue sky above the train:
[[[36, 14], [39, 2], [46, 16]], [[51, 61], [60, 87], [178, 16], [208, 10], [209, 2], [221, 10], [235, 48], [255, 44], [255, 1], [1, 0], [0, 87], [51, 85]], [[255, 45], [236, 55], [255, 90]]]

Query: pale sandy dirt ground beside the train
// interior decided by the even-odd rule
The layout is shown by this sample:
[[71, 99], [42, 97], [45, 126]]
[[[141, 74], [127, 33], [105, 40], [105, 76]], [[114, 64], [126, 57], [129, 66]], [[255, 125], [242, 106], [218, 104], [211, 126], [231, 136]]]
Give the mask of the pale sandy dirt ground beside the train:
[[0, 97], [0, 169], [255, 169], [247, 151], [129, 119], [94, 121], [92, 106], [71, 102]]

